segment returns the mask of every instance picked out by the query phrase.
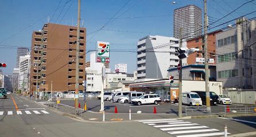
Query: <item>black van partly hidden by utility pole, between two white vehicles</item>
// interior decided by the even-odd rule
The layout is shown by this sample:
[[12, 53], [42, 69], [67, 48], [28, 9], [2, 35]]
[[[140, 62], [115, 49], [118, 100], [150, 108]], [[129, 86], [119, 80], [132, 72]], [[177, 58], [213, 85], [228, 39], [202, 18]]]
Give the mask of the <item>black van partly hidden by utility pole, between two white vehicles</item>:
[[[200, 98], [202, 99], [202, 103], [203, 104], [206, 104], [206, 93], [205, 91], [191, 91], [191, 92], [196, 92]], [[210, 91], [210, 103], [211, 105], [216, 105], [217, 102], [218, 102], [218, 98], [219, 96], [215, 93], [215, 92], [212, 92]]]

